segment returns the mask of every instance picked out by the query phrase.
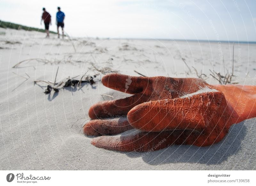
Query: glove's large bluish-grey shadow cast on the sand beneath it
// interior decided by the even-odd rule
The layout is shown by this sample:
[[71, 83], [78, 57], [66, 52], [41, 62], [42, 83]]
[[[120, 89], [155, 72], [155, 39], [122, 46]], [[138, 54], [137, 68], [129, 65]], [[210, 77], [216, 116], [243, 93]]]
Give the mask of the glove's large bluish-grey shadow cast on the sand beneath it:
[[220, 164], [239, 152], [246, 132], [249, 130], [244, 122], [232, 125], [228, 135], [212, 146], [197, 147], [190, 145], [173, 145], [165, 149], [153, 152], [131, 152], [125, 153], [128, 157], [141, 157], [143, 161], [150, 165], [168, 163], [200, 163], [200, 164]]

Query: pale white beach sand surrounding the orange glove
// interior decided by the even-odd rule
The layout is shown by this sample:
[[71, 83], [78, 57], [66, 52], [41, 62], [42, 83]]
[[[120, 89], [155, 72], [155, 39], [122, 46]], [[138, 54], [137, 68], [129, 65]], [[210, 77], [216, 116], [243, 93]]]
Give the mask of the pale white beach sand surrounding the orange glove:
[[[181, 60], [183, 57], [188, 66], [194, 66], [198, 73], [202, 70], [209, 77], [208, 83], [216, 84], [209, 69], [213, 64], [215, 71], [224, 74], [218, 43], [80, 38], [72, 41], [75, 52], [68, 39], [57, 39], [55, 35], [44, 39], [43, 33], [3, 28], [0, 41], [1, 170], [255, 169], [255, 118], [233, 125], [224, 140], [210, 147], [171, 146], [151, 153], [108, 151], [91, 145], [91, 138], [84, 136], [81, 127], [89, 120], [88, 109], [92, 104], [127, 94], [97, 82], [92, 86], [84, 84], [80, 90], [75, 87], [44, 95], [47, 84], [40, 83], [40, 87], [33, 83], [39, 79], [54, 81], [58, 66], [58, 82], [87, 70], [87, 74], [94, 75], [97, 71], [92, 63], [99, 69], [110, 67], [135, 76], [138, 74], [133, 70], [146, 76], [196, 77], [191, 67], [192, 73], [185, 73], [189, 70]], [[229, 71], [232, 44], [221, 43]], [[235, 74], [239, 77], [235, 81], [255, 85], [255, 51], [254, 44], [236, 43]], [[29, 58], [45, 58], [53, 63], [31, 61], [12, 68]], [[13, 73], [28, 77], [27, 73], [30, 78], [25, 81]]]

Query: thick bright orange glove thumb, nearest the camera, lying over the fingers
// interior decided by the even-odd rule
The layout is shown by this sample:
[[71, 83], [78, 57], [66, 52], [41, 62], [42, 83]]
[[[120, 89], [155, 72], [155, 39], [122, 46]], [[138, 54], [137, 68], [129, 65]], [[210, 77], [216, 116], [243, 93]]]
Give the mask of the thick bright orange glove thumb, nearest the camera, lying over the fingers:
[[[132, 127], [142, 131], [180, 129], [203, 130], [209, 121], [209, 130], [214, 125], [225, 126], [219, 120], [226, 109], [226, 101], [219, 91], [204, 92], [175, 99], [150, 101], [135, 106], [127, 118]], [[214, 117], [211, 117], [214, 113]]]

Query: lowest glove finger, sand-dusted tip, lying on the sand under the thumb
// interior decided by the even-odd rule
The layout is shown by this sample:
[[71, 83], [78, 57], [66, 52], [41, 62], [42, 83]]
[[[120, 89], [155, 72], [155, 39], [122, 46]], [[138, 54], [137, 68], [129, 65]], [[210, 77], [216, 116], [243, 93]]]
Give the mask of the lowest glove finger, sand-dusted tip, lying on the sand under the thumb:
[[138, 132], [126, 136], [100, 136], [92, 139], [98, 148], [124, 152], [157, 151], [174, 144], [193, 144], [200, 135], [192, 130]]

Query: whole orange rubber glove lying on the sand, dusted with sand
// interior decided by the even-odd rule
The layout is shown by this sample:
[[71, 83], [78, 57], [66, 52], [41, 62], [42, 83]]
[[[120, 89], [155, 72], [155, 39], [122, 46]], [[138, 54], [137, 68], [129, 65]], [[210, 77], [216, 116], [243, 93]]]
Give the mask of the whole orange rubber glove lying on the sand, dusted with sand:
[[[207, 146], [222, 140], [232, 124], [256, 117], [256, 86], [122, 74], [105, 75], [102, 83], [133, 96], [99, 102], [90, 108], [93, 120], [84, 125], [83, 131], [100, 136], [91, 142], [99, 148], [143, 152], [173, 144]], [[132, 128], [139, 131], [104, 136]]]

